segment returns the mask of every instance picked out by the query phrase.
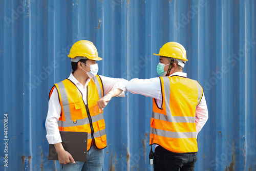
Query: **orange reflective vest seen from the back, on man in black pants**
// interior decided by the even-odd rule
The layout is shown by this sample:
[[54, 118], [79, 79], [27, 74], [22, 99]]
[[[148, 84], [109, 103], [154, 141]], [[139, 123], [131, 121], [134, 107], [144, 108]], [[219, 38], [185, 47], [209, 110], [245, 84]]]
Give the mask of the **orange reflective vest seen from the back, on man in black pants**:
[[197, 152], [196, 107], [203, 89], [192, 79], [171, 76], [159, 77], [162, 106], [153, 98], [150, 144], [158, 144], [170, 152]]

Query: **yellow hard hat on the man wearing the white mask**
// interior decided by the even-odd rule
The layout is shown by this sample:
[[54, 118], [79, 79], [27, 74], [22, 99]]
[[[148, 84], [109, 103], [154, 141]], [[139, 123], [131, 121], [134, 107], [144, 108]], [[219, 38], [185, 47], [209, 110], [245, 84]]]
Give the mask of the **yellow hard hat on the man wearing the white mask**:
[[102, 60], [101, 57], [98, 57], [98, 51], [91, 41], [80, 40], [75, 42], [75, 44], [70, 49], [68, 57], [71, 58], [71, 61], [78, 62], [82, 58], [88, 58], [92, 60]]

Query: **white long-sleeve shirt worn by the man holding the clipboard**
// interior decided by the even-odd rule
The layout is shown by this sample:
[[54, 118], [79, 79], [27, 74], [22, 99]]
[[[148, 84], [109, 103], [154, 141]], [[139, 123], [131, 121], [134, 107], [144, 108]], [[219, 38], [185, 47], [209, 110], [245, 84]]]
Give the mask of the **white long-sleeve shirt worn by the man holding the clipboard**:
[[[118, 97], [125, 97], [127, 80], [122, 78], [110, 78], [99, 75], [103, 84], [104, 94], [109, 93], [112, 89], [121, 89], [122, 93]], [[87, 104], [87, 85], [91, 79], [87, 79], [86, 85], [83, 87], [82, 84], [73, 76], [71, 73], [69, 78], [75, 83], [76, 87], [82, 93], [82, 99]], [[61, 105], [59, 103], [58, 93], [56, 88], [53, 89], [52, 95], [49, 99], [49, 108], [46, 118], [46, 138], [49, 144], [56, 144], [61, 141], [61, 137], [58, 129], [58, 120], [61, 114]]]

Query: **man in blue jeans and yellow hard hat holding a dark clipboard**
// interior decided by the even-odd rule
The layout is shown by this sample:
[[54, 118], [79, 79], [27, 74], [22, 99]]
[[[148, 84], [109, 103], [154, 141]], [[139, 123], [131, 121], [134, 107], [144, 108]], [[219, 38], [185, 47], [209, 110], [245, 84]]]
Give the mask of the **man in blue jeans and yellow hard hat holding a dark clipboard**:
[[[97, 75], [98, 57], [91, 41], [77, 41], [71, 48], [72, 72], [52, 87], [46, 119], [47, 140], [54, 144], [61, 170], [102, 170], [106, 147], [103, 108], [112, 97], [124, 97], [125, 79]], [[59, 131], [87, 132], [87, 162], [74, 161], [63, 148]]]

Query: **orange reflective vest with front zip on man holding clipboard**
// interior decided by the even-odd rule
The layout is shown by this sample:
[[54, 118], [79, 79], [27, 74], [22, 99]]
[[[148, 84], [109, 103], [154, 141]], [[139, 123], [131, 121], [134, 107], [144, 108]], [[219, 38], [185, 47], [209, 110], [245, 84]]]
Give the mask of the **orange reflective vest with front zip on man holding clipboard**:
[[61, 105], [58, 121], [59, 131], [87, 132], [87, 150], [94, 140], [97, 148], [106, 147], [106, 132], [103, 111], [98, 108], [97, 101], [104, 96], [101, 79], [98, 75], [91, 78], [87, 86], [87, 103], [82, 100], [82, 93], [69, 79], [55, 83]]

